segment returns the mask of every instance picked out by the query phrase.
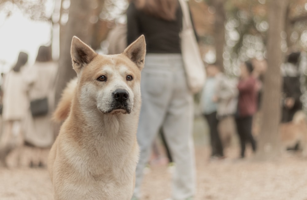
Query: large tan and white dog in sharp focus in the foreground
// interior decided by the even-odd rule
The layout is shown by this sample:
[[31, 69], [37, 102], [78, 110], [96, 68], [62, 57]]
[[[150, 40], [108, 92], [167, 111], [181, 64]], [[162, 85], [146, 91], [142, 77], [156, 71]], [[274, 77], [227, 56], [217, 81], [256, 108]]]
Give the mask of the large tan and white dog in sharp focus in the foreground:
[[73, 37], [78, 79], [56, 109], [58, 119], [69, 114], [48, 158], [55, 199], [130, 200], [145, 53], [144, 36], [117, 55], [98, 55]]

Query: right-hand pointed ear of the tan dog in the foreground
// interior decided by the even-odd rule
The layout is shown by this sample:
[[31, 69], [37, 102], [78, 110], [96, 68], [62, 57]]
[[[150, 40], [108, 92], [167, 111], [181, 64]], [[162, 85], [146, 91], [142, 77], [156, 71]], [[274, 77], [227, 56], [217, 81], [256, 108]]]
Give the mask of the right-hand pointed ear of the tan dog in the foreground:
[[144, 35], [130, 44], [123, 52], [132, 62], [134, 62], [140, 70], [144, 67], [146, 55], [146, 42]]

